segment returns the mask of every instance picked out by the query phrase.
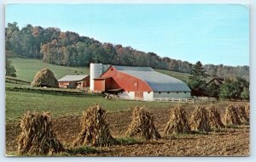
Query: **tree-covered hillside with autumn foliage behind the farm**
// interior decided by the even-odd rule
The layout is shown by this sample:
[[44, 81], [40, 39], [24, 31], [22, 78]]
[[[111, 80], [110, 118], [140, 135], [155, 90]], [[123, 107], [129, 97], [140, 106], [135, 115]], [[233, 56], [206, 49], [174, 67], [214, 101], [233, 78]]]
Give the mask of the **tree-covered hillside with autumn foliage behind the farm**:
[[[154, 69], [190, 73], [193, 64], [156, 53], [144, 53], [132, 47], [102, 43], [78, 33], [59, 28], [9, 23], [5, 30], [6, 55], [26, 59], [42, 59], [45, 63], [68, 67], [88, 67], [90, 63], [149, 66]], [[125, 39], [125, 38], [124, 38]], [[241, 76], [249, 79], [248, 66], [204, 65], [207, 74], [218, 77]]]

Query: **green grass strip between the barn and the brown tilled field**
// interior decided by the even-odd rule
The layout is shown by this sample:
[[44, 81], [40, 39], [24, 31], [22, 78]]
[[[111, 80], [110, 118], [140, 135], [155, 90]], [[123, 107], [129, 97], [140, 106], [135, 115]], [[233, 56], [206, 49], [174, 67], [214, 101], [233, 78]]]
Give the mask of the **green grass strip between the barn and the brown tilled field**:
[[44, 92], [17, 92], [11, 87], [23, 87], [25, 85], [16, 85], [6, 83], [6, 121], [15, 122], [26, 111], [49, 111], [54, 117], [82, 115], [84, 109], [90, 105], [100, 103], [108, 111], [127, 111], [136, 105], [146, 106], [147, 108], [166, 108], [170, 103], [151, 103], [130, 100], [106, 100], [102, 96], [95, 95], [59, 95], [48, 94]]

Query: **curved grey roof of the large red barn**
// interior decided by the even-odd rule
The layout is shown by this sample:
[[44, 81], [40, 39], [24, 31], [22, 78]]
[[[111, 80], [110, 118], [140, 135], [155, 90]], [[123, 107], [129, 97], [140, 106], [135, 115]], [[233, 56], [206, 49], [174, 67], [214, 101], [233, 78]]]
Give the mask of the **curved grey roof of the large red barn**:
[[169, 75], [156, 72], [150, 67], [116, 66], [116, 70], [128, 75], [133, 75], [143, 81], [154, 90], [154, 92], [190, 92], [190, 88], [183, 81]]

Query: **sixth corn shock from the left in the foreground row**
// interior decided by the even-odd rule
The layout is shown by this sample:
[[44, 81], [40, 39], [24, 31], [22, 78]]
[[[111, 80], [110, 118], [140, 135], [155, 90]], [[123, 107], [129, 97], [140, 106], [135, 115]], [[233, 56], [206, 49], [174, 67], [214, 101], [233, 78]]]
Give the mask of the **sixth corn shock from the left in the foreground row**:
[[211, 106], [209, 109], [209, 120], [211, 128], [224, 128], [224, 124], [221, 120], [220, 113], [217, 107]]

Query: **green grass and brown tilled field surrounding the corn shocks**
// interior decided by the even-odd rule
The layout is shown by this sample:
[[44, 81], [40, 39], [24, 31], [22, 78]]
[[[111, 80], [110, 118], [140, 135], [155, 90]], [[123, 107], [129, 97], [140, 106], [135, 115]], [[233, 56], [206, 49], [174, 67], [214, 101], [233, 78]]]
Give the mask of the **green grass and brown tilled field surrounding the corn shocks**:
[[[7, 83], [7, 87], [16, 85]], [[24, 86], [26, 87], [26, 86]], [[15, 88], [14, 88], [15, 89]], [[122, 141], [108, 147], [72, 148], [72, 143], [81, 130], [80, 118], [83, 111], [100, 103], [107, 111], [107, 123], [114, 138]], [[224, 108], [229, 104], [246, 102], [218, 102], [224, 117]], [[68, 96], [48, 94], [44, 92], [19, 92], [9, 88], [6, 91], [6, 154], [15, 155], [17, 142], [15, 138], [20, 133], [20, 118], [26, 111], [49, 111], [53, 120], [53, 131], [66, 148], [73, 151], [63, 152], [67, 156], [206, 156], [206, 155], [249, 155], [249, 125], [230, 125], [215, 131], [192, 134], [177, 134], [159, 140], [144, 140], [126, 137], [131, 122], [131, 108], [144, 106], [154, 116], [156, 129], [163, 134], [166, 123], [170, 119], [170, 111], [177, 103], [154, 103], [126, 100], [106, 100], [101, 96]], [[208, 105], [209, 103], [203, 103]], [[195, 104], [182, 103], [188, 114], [188, 119], [195, 109]]]

